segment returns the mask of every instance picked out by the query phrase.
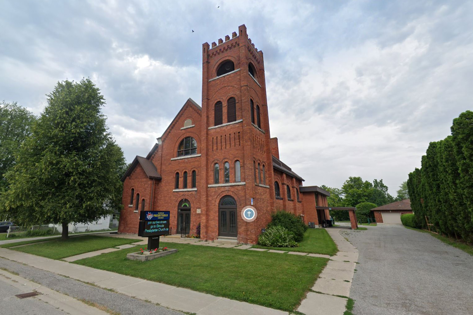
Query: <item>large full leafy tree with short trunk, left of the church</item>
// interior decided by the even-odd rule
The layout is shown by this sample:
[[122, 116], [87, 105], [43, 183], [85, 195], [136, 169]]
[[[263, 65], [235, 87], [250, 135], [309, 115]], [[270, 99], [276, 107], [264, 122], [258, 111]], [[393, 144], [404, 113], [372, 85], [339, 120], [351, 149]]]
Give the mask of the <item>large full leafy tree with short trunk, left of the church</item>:
[[23, 224], [87, 223], [121, 209], [125, 165], [90, 79], [58, 82], [7, 173], [6, 212]]

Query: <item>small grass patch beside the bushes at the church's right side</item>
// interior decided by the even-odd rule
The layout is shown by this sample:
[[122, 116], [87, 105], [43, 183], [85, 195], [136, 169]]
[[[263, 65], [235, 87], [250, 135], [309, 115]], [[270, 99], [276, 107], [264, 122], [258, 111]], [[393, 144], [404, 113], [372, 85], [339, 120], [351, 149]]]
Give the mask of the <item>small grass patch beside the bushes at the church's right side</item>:
[[298, 247], [266, 247], [260, 245], [254, 245], [253, 247], [331, 256], [338, 252], [337, 246], [325, 229], [308, 229]]

